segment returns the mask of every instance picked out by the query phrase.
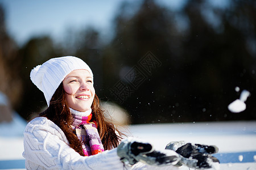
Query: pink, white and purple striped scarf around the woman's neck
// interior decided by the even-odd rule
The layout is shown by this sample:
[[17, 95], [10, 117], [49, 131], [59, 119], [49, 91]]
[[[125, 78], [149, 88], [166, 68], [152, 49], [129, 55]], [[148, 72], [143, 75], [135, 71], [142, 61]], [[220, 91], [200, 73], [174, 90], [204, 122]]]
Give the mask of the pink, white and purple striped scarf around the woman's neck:
[[78, 112], [71, 109], [73, 116], [72, 129], [77, 137], [82, 140], [82, 150], [85, 156], [96, 155], [104, 151], [98, 134], [96, 122], [90, 122], [92, 119], [92, 109], [86, 112]]

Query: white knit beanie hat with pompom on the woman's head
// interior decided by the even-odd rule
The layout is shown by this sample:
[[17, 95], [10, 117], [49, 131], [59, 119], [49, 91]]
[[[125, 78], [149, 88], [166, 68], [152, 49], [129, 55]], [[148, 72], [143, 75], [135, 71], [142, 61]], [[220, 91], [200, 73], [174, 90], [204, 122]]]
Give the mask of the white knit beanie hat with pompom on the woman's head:
[[30, 79], [44, 93], [49, 106], [53, 94], [64, 78], [71, 71], [81, 69], [88, 70], [93, 78], [92, 70], [80, 58], [73, 56], [51, 58], [44, 62], [43, 65], [38, 65], [32, 69]]

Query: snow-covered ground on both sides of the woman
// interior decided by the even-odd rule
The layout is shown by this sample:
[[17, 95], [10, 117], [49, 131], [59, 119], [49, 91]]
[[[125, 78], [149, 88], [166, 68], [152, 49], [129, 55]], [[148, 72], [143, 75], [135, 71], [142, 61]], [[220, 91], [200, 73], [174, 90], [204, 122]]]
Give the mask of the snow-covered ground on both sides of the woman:
[[[15, 114], [16, 115], [16, 114]], [[22, 132], [26, 122], [19, 116], [0, 124], [0, 169], [24, 169]], [[134, 137], [164, 149], [171, 141], [189, 141], [216, 145], [220, 151], [220, 169], [256, 169], [256, 121], [193, 122], [131, 125]], [[181, 167], [180, 169], [189, 169]]]

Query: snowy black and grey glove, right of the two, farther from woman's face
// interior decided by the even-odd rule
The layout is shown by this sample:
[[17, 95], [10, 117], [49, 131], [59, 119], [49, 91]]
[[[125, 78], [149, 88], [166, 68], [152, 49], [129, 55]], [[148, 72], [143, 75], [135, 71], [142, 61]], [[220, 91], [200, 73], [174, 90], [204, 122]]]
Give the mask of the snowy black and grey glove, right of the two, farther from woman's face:
[[217, 146], [176, 141], [168, 143], [166, 149], [176, 151], [180, 155], [180, 161], [176, 164], [177, 166], [185, 165], [196, 169], [219, 169], [219, 160], [210, 155], [218, 152]]

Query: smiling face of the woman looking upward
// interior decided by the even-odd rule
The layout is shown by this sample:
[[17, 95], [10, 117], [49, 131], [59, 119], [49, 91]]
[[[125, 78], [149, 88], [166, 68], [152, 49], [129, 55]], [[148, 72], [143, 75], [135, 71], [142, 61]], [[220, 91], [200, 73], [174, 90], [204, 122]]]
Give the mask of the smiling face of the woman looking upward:
[[95, 90], [93, 78], [87, 70], [73, 70], [63, 80], [65, 97], [69, 107], [76, 111], [88, 111], [92, 106]]

